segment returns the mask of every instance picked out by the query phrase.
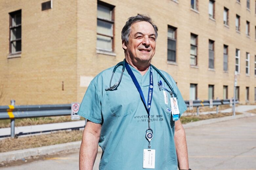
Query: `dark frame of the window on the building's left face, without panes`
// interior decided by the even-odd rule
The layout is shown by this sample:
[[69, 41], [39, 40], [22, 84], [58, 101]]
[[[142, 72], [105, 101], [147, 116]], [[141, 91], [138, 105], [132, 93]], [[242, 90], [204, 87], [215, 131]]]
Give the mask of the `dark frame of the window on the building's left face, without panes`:
[[[20, 23], [21, 23], [21, 24], [12, 26], [13, 15], [15, 16], [15, 15], [17, 15], [18, 13], [20, 13], [20, 20], [21, 20]], [[22, 11], [21, 11], [21, 9], [16, 10], [16, 11], [13, 11], [13, 12], [10, 12], [10, 13], [9, 13], [9, 55], [21, 54], [21, 52], [22, 52], [22, 27], [21, 27], [21, 25], [22, 25]], [[15, 28], [18, 28], [18, 27], [20, 27], [20, 29], [21, 29], [21, 36], [20, 36], [20, 38], [15, 39], [15, 40], [11, 40], [11, 30], [12, 30], [12, 29], [15, 29]], [[12, 42], [15, 42], [15, 41], [16, 41], [16, 42], [17, 42], [17, 41], [20, 41], [20, 43], [21, 43], [20, 51], [12, 52], [12, 49], [11, 49], [11, 47], [12, 47]]]

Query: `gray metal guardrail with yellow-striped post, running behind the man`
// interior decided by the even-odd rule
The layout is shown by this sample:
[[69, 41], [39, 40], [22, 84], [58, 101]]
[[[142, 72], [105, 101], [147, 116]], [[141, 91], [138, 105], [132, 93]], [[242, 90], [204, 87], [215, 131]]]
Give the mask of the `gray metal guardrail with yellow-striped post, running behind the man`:
[[[197, 115], [199, 115], [199, 107], [210, 106], [210, 100], [193, 100], [185, 101], [189, 108], [197, 107]], [[238, 100], [236, 100], [238, 103]], [[212, 100], [212, 106], [230, 105], [230, 100]], [[232, 104], [232, 103], [231, 103]], [[15, 105], [15, 100], [11, 100], [11, 105], [0, 106], [0, 120], [11, 119], [11, 138], [14, 138], [15, 119], [47, 117], [47, 116], [65, 116], [71, 115], [71, 104], [61, 105]]]

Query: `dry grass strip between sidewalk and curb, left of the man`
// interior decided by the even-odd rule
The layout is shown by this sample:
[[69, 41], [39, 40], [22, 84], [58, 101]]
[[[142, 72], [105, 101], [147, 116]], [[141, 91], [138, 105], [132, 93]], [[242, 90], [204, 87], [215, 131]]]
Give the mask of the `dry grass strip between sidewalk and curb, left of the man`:
[[27, 149], [33, 147], [63, 144], [82, 140], [81, 130], [59, 131], [51, 134], [34, 135], [20, 138], [7, 138], [0, 140], [0, 152]]

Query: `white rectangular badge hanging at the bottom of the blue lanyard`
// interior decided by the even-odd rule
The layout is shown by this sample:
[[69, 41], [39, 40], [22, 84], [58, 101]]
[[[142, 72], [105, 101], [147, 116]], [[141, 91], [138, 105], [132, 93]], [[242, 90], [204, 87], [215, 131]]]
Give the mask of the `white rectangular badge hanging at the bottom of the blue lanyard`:
[[143, 168], [155, 169], [155, 149], [144, 149]]

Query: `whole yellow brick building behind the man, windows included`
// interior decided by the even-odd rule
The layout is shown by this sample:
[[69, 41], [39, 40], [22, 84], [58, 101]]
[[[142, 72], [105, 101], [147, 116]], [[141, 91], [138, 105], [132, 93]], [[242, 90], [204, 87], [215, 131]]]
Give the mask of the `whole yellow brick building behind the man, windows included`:
[[[123, 60], [121, 29], [147, 14], [152, 63], [185, 100], [256, 101], [255, 0], [0, 0], [0, 105], [80, 102], [91, 79]], [[111, 75], [109, 75], [111, 77]]]

